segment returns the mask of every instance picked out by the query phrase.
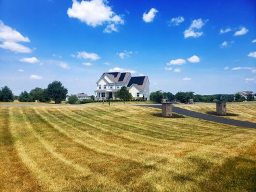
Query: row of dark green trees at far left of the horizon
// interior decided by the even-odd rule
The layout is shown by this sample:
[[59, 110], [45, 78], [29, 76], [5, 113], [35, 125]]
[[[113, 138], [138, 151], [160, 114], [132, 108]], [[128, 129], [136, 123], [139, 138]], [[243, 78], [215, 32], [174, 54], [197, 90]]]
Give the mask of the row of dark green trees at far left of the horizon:
[[54, 81], [47, 86], [47, 88], [34, 88], [30, 92], [24, 91], [20, 96], [13, 96], [10, 88], [4, 86], [0, 90], [0, 101], [12, 102], [18, 99], [20, 102], [50, 102], [61, 103], [67, 96], [67, 89], [62, 86], [61, 82]]

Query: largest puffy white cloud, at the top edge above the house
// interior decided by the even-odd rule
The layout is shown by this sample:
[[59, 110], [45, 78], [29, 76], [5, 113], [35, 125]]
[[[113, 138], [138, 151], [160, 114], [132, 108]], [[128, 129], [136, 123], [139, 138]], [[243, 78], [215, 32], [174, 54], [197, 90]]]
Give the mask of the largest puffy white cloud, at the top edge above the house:
[[106, 5], [107, 3], [106, 0], [73, 0], [72, 7], [67, 9], [67, 15], [92, 27], [107, 24], [104, 32], [118, 32], [117, 25], [124, 24], [124, 21], [120, 15], [112, 11], [112, 7]]

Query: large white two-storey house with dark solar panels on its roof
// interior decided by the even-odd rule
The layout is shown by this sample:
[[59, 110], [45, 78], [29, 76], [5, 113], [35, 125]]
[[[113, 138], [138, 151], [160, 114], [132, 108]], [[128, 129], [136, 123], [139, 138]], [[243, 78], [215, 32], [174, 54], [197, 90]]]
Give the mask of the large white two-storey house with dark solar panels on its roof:
[[131, 73], [113, 72], [103, 73], [98, 79], [96, 100], [116, 99], [117, 91], [125, 86], [133, 98], [150, 99], [150, 82], [148, 76], [131, 77]]

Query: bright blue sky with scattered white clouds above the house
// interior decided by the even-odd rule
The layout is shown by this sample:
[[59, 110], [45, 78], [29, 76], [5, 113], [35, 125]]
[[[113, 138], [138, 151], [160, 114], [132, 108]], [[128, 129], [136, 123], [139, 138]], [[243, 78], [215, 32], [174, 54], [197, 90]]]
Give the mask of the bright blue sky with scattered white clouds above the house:
[[0, 0], [0, 86], [55, 79], [94, 94], [105, 71], [150, 91], [256, 92], [255, 1]]

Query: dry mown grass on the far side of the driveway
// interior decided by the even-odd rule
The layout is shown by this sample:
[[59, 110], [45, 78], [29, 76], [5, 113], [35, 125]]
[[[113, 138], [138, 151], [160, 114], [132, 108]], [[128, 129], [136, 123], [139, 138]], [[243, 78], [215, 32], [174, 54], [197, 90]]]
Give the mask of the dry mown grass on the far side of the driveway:
[[[216, 115], [214, 114], [216, 104], [179, 104], [177, 106], [199, 113]], [[222, 117], [256, 123], [256, 102], [227, 103], [226, 108], [227, 115]]]

